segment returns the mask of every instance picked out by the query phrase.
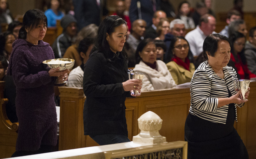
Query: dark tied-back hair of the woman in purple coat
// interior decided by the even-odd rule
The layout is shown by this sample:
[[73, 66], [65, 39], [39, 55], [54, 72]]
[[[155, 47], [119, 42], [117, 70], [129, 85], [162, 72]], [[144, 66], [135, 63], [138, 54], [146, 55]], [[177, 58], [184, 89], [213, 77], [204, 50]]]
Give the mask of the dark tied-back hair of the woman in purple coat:
[[47, 18], [43, 11], [39, 9], [28, 10], [23, 17], [23, 26], [19, 31], [19, 39], [27, 38], [27, 28], [29, 31], [39, 25], [40, 23], [47, 24]]

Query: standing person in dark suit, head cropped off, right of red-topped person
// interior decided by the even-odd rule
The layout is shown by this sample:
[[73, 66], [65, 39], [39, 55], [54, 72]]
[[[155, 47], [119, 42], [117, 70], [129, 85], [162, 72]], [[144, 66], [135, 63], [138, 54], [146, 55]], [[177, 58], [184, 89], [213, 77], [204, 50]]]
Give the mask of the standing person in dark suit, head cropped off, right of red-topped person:
[[147, 27], [152, 25], [154, 13], [160, 9], [160, 0], [131, 0], [129, 17], [131, 23], [137, 19], [147, 22]]

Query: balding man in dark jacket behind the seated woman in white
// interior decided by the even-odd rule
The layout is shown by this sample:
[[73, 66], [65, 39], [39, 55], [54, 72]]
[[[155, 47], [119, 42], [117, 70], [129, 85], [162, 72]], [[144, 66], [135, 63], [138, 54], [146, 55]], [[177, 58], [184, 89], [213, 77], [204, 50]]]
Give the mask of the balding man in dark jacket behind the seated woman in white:
[[157, 26], [160, 22], [160, 18], [166, 18], [166, 13], [164, 11], [156, 11], [152, 18], [152, 25], [149, 26], [145, 33], [145, 38], [152, 38], [155, 39], [157, 37]]

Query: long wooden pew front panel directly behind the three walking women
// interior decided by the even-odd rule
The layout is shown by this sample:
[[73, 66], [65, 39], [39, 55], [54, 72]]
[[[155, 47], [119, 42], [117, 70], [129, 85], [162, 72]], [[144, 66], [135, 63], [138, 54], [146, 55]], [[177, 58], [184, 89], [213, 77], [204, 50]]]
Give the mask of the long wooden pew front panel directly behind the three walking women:
[[[234, 127], [247, 147], [249, 156], [256, 156], [256, 81], [250, 83], [248, 102], [237, 108], [238, 123]], [[83, 135], [82, 88], [59, 87], [60, 90], [60, 138], [59, 150], [96, 146], [89, 136]], [[126, 119], [128, 137], [139, 133], [137, 119], [147, 111], [153, 111], [163, 119], [159, 131], [167, 142], [184, 141], [184, 127], [190, 108], [190, 88], [173, 88], [143, 92], [136, 98], [127, 98]]]

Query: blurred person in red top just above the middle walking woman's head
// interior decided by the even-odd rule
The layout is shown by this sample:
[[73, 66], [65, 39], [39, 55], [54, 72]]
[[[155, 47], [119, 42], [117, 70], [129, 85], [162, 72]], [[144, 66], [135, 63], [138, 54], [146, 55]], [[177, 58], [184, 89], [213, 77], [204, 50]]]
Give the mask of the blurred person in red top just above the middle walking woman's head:
[[116, 12], [113, 13], [114, 16], [119, 16], [121, 17], [123, 20], [125, 20], [125, 22], [127, 23], [127, 26], [129, 28], [129, 31], [131, 31], [131, 21], [129, 16], [124, 15], [124, 11], [125, 11], [125, 5], [124, 5], [124, 1], [122, 0], [117, 0], [116, 1]]

